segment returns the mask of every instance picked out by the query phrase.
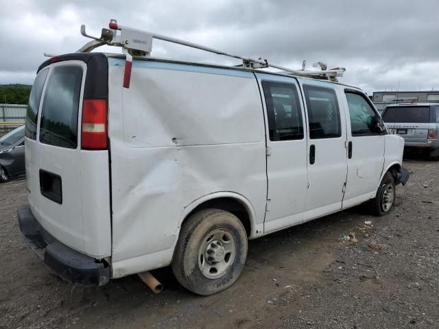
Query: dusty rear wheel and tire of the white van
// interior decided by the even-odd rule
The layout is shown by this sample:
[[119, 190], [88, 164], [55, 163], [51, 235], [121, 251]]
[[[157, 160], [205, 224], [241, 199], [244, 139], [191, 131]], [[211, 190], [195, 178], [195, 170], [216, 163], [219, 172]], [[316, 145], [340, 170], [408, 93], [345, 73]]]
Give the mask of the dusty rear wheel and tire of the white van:
[[[220, 238], [217, 239], [217, 236]], [[206, 253], [216, 253], [208, 250], [215, 243], [223, 251], [217, 251], [218, 254], [213, 255], [213, 258]], [[229, 249], [234, 245], [234, 254], [228, 253], [222, 243]], [[182, 224], [172, 260], [172, 271], [183, 287], [198, 295], [212, 295], [235, 283], [246, 263], [247, 248], [246, 230], [235, 215], [219, 209], [200, 210]], [[219, 260], [222, 256], [223, 259]], [[222, 268], [215, 274], [213, 269], [216, 264]], [[212, 272], [206, 272], [207, 269]], [[206, 277], [220, 274], [219, 278]]]

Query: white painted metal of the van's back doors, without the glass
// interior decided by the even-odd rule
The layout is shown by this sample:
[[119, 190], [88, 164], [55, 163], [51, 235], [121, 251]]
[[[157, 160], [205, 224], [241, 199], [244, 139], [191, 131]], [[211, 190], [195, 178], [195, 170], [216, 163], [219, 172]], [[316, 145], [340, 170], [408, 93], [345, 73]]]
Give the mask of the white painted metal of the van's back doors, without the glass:
[[[58, 66], [82, 67], [82, 86], [79, 108], [87, 66], [82, 61], [69, 60], [47, 66], [49, 74], [43, 88], [38, 111], [38, 127], [44, 106], [44, 95], [51, 72]], [[80, 132], [81, 110], [78, 111]], [[108, 151], [69, 149], [40, 143], [26, 138], [26, 172], [29, 206], [33, 215], [49, 234], [64, 245], [95, 258], [111, 256], [110, 186]], [[29, 150], [29, 151], [27, 151]], [[58, 173], [62, 177], [62, 204], [57, 204], [40, 194], [39, 170]]]

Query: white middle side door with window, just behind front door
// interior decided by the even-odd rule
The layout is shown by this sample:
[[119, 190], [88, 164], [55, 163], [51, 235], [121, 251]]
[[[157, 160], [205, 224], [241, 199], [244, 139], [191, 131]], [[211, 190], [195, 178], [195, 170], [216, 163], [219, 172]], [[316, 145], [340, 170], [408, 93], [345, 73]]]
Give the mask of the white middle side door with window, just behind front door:
[[309, 128], [307, 221], [342, 208], [347, 174], [346, 120], [336, 85], [313, 80], [300, 80], [300, 85]]

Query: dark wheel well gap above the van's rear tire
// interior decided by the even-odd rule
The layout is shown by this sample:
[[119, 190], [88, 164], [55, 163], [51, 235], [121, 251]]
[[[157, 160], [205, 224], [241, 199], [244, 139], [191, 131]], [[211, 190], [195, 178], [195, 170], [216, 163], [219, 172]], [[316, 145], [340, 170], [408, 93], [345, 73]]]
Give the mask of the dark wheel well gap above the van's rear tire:
[[189, 212], [189, 214], [185, 217], [183, 222], [191, 215], [195, 214], [195, 212], [209, 208], [226, 210], [228, 212], [233, 213], [233, 215], [238, 217], [242, 225], [244, 225], [247, 236], [250, 236], [252, 230], [252, 226], [250, 223], [250, 214], [246, 206], [244, 206], [244, 204], [239, 202], [237, 199], [233, 199], [233, 197], [219, 197], [217, 199], [207, 200], [206, 202], [199, 204], [191, 212]]

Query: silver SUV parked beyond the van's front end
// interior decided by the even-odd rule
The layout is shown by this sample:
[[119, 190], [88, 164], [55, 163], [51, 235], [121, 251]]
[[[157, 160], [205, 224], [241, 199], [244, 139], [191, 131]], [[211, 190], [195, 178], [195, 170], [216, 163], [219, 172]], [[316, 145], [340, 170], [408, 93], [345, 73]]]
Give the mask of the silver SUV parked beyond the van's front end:
[[392, 134], [404, 138], [406, 149], [427, 151], [439, 159], [439, 104], [410, 103], [388, 106], [383, 120]]

